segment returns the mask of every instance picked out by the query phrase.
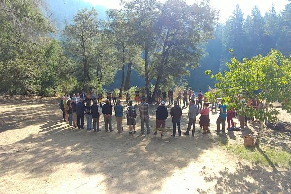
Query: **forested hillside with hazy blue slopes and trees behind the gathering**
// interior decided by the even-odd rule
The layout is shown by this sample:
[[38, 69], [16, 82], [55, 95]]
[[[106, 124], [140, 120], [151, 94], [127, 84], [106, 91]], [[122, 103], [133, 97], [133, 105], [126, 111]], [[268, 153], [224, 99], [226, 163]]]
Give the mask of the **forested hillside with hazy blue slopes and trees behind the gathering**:
[[229, 48], [241, 61], [291, 50], [290, 1], [280, 13], [254, 7], [247, 17], [237, 5], [225, 24], [207, 1], [134, 0], [107, 10], [82, 0], [3, 0], [0, 9], [1, 93], [148, 91], [150, 83], [154, 90], [188, 83], [206, 91], [214, 80], [204, 71], [226, 69]]

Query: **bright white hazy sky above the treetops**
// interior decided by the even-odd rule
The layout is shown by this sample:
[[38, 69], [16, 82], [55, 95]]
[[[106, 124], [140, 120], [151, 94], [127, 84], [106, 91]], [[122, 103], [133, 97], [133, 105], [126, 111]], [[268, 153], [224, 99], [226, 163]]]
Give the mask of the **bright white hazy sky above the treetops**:
[[[119, 5], [120, 0], [84, 0], [87, 2], [91, 2], [94, 5], [102, 5], [107, 8], [121, 8]], [[127, 0], [130, 1], [130, 0]], [[158, 0], [160, 2], [165, 2], [166, 0]], [[186, 0], [187, 3], [193, 3], [197, 0]], [[236, 4], [239, 4], [242, 12], [244, 13], [244, 17], [251, 13], [251, 10], [256, 5], [259, 7], [261, 14], [264, 15], [266, 11], [268, 11], [272, 3], [276, 8], [277, 13], [284, 9], [287, 4], [287, 0], [210, 0], [210, 4], [212, 7], [220, 10], [220, 21], [225, 22], [228, 16], [233, 12]]]

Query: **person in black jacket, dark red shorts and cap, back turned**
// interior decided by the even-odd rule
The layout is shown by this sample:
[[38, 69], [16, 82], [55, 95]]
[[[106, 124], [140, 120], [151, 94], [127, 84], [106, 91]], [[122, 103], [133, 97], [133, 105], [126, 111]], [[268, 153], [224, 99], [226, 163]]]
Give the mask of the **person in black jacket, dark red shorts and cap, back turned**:
[[155, 135], [157, 135], [157, 131], [159, 127], [162, 126], [161, 137], [163, 136], [163, 130], [165, 129], [167, 118], [168, 118], [168, 109], [165, 107], [165, 102], [162, 101], [156, 111], [156, 131], [154, 133]]

